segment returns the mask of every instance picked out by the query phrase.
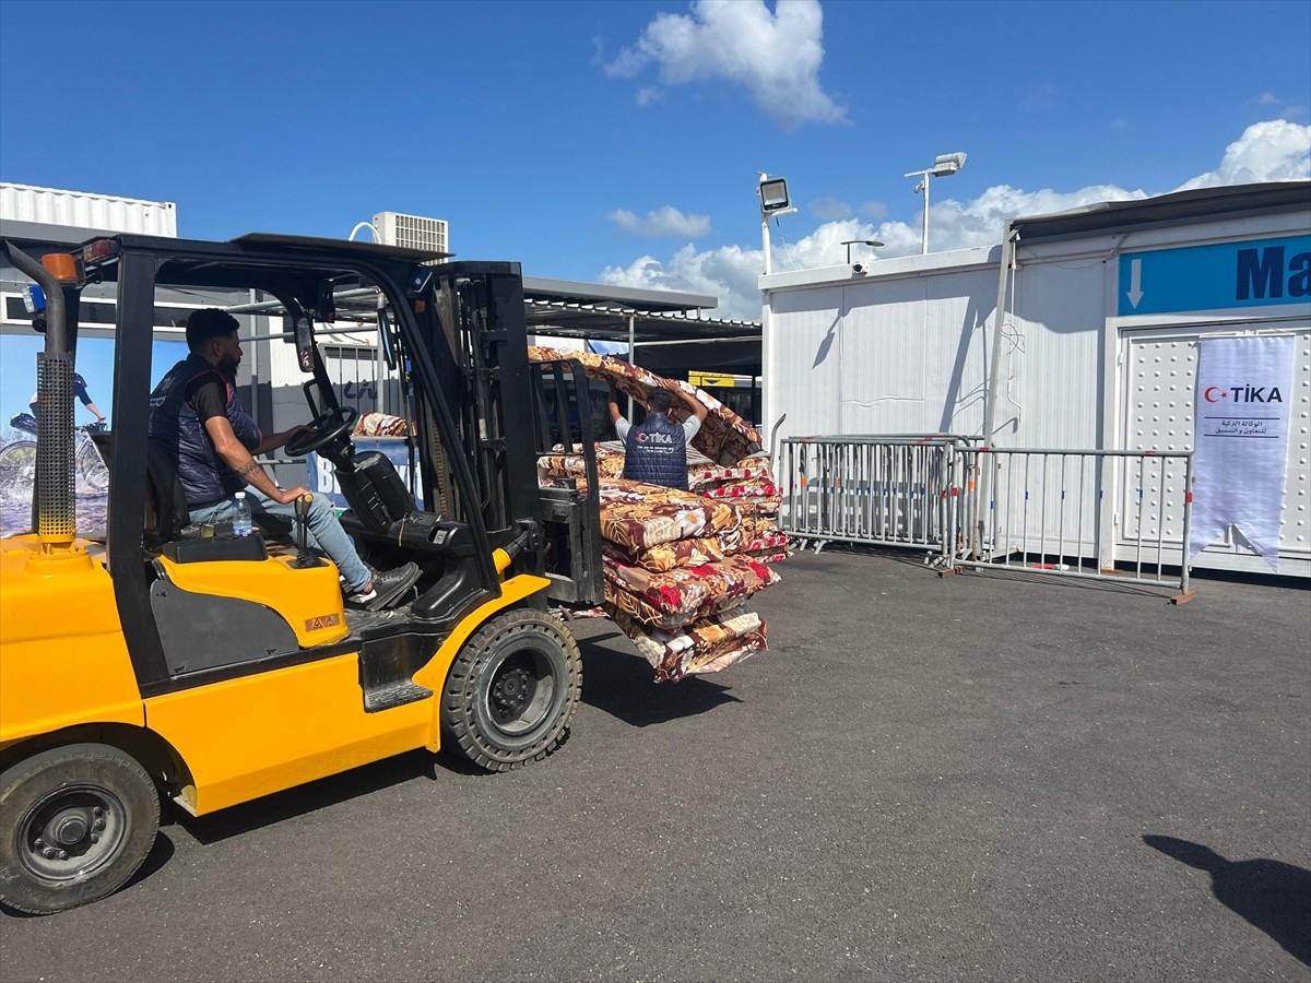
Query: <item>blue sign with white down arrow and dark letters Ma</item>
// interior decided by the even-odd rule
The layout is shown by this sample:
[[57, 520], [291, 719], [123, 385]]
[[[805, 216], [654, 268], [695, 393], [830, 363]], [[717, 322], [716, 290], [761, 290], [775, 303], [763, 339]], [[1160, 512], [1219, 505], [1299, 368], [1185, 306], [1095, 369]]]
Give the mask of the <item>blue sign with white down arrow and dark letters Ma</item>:
[[1154, 249], [1120, 257], [1121, 317], [1311, 300], [1311, 236]]

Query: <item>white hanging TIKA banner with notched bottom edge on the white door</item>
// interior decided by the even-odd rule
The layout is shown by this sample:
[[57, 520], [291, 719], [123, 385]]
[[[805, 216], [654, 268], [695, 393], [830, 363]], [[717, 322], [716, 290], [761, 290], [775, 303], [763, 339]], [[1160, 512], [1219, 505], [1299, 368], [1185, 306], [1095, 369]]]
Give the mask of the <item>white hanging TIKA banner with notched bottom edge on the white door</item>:
[[1201, 341], [1190, 558], [1234, 526], [1277, 568], [1295, 351], [1291, 336]]

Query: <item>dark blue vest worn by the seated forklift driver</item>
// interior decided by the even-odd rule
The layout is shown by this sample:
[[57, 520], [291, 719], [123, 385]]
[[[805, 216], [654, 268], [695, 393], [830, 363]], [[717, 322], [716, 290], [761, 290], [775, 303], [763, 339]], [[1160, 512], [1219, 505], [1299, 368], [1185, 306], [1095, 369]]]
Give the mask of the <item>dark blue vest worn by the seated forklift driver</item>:
[[199, 355], [191, 354], [173, 366], [151, 393], [149, 436], [177, 463], [177, 476], [191, 506], [212, 505], [245, 488], [245, 482], [223, 463], [205, 425], [187, 405], [186, 388], [206, 372], [223, 387], [225, 410], [232, 433], [243, 446], [254, 452], [264, 435], [237, 401], [232, 380]]

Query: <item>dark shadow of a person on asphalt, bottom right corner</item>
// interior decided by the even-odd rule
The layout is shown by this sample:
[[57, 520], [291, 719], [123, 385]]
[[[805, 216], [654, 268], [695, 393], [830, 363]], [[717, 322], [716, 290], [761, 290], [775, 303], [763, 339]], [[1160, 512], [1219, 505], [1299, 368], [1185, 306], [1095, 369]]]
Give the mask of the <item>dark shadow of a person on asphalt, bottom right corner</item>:
[[1311, 966], [1311, 870], [1280, 860], [1226, 860], [1173, 836], [1143, 836], [1143, 843], [1209, 873], [1215, 900]]

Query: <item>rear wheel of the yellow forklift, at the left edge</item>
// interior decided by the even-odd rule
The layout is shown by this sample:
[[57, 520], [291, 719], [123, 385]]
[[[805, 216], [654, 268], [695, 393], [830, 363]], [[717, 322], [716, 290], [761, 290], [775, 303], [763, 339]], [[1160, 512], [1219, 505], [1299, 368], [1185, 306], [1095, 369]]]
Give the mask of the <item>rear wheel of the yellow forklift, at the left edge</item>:
[[0, 904], [49, 915], [113, 894], [159, 830], [151, 776], [108, 744], [42, 751], [0, 775]]

